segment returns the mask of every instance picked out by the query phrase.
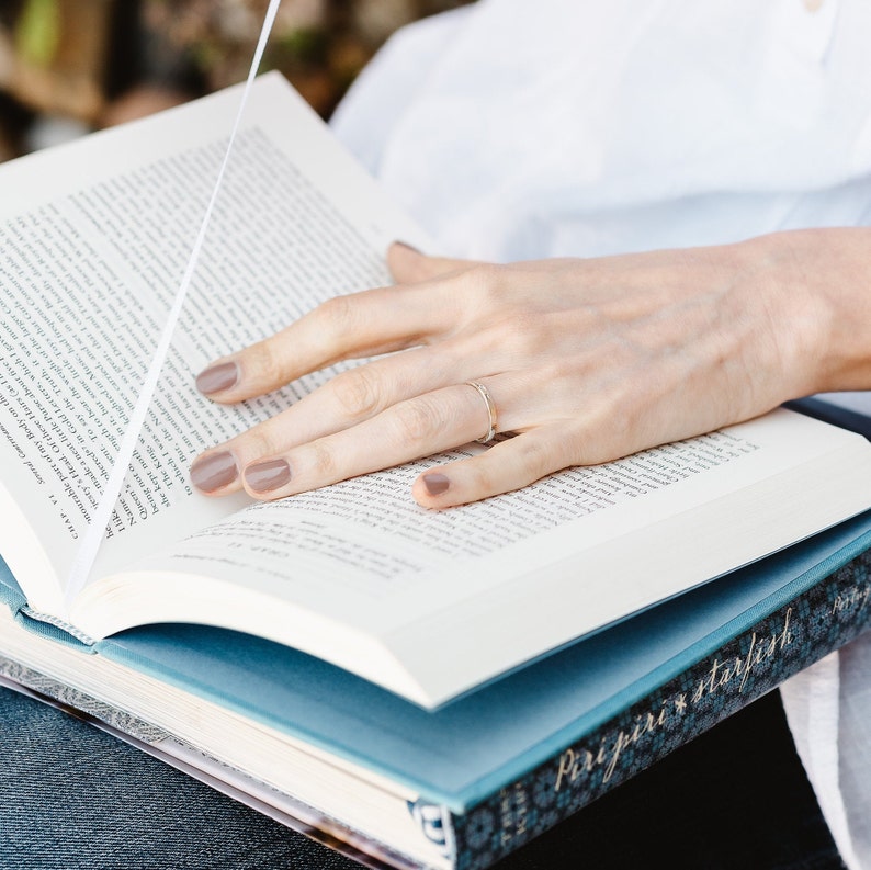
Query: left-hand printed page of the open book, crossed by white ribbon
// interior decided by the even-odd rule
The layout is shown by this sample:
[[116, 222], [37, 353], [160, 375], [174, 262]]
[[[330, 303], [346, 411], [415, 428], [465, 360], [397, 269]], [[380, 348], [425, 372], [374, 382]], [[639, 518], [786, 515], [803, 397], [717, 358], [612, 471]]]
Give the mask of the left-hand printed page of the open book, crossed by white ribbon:
[[[55, 578], [65, 576], [90, 521], [186, 265], [226, 147], [208, 134], [231, 116], [231, 98], [21, 161], [12, 167], [20, 169], [19, 185], [21, 177], [32, 180], [38, 188], [30, 199], [38, 200], [39, 191], [68, 185], [78, 165], [93, 166], [102, 152], [117, 161], [135, 146], [115, 171], [22, 211], [9, 207], [15, 174], [4, 172], [13, 195], [0, 212], [0, 479], [24, 518], [20, 524], [43, 542]], [[361, 228], [353, 212], [369, 191], [360, 182], [335, 190], [335, 178], [359, 170], [349, 170], [338, 151], [338, 168], [330, 163], [330, 148], [319, 147], [319, 137], [331, 143], [329, 134], [286, 86], [261, 80], [249, 109], [94, 574], [150, 552], [170, 530], [183, 534], [236, 509], [238, 499], [193, 493], [191, 460], [336, 369], [234, 408], [200, 396], [196, 372], [337, 292], [387, 282], [385, 239], [414, 235], [377, 197], [364, 206], [371, 212]], [[154, 159], [161, 150], [157, 134], [173, 146], [167, 143]], [[315, 156], [317, 172], [329, 172], [326, 184], [301, 167]], [[370, 214], [384, 225], [373, 225]], [[0, 547], [27, 587], [35, 572], [21, 570], [20, 540], [12, 535]], [[50, 591], [36, 597], [59, 607]]]

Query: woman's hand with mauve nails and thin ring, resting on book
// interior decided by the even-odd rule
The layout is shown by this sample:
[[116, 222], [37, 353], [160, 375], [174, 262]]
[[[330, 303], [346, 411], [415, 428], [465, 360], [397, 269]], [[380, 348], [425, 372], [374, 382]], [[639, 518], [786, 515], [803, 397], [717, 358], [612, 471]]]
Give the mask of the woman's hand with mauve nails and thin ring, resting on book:
[[202, 454], [192, 479], [211, 495], [244, 486], [273, 499], [455, 448], [489, 426], [471, 381], [491, 396], [497, 430], [516, 437], [419, 476], [412, 493], [426, 507], [748, 419], [849, 381], [850, 366], [830, 359], [829, 297], [867, 244], [867, 230], [812, 230], [512, 265], [395, 245], [396, 285], [325, 303], [197, 385], [233, 403], [338, 360], [401, 352]]

